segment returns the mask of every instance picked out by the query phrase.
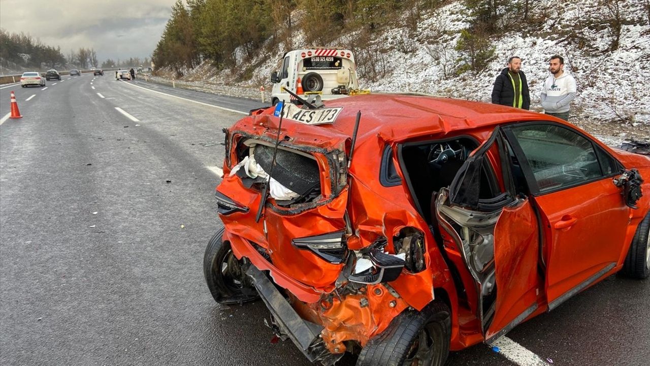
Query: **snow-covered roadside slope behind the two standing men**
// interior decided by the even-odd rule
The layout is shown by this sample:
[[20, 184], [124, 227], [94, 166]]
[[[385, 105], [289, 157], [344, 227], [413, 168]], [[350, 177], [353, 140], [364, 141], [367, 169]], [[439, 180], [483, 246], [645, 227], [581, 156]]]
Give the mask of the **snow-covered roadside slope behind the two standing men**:
[[[386, 74], [377, 81], [361, 79], [362, 89], [374, 92], [422, 92], [489, 102], [492, 84], [505, 67], [508, 57], [523, 59], [531, 95], [531, 109], [541, 111], [539, 96], [549, 76], [547, 63], [555, 53], [565, 57], [565, 70], [578, 84], [578, 98], [571, 106], [571, 122], [588, 132], [618, 145], [623, 139], [650, 139], [650, 26], [643, 4], [625, 0], [621, 13], [629, 21], [623, 25], [620, 46], [607, 51], [610, 37], [603, 25], [604, 8], [597, 0], [570, 0], [564, 3], [541, 0], [536, 7], [547, 11], [547, 21], [536, 35], [506, 33], [491, 40], [497, 57], [478, 75], [456, 76], [454, 49], [460, 30], [467, 27], [465, 8], [460, 2], [422, 16], [415, 31], [406, 26], [383, 32], [375, 46], [384, 53]], [[330, 45], [345, 45], [354, 35], [342, 35]], [[294, 45], [303, 43], [300, 33]], [[266, 48], [260, 48], [266, 49]], [[239, 67], [258, 65], [248, 81], [234, 80], [237, 70], [220, 72], [207, 64], [192, 70], [177, 85], [232, 96], [260, 98], [259, 87], [270, 98], [269, 77], [277, 70], [283, 46], [261, 53], [253, 60], [240, 59]], [[162, 79], [157, 79], [162, 81]]]

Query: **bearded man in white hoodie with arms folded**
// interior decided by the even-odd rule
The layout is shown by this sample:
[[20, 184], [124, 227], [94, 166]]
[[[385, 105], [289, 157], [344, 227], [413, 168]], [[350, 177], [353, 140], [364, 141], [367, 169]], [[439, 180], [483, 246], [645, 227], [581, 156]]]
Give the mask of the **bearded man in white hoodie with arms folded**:
[[541, 107], [544, 113], [569, 120], [569, 105], [575, 99], [575, 79], [564, 71], [564, 57], [553, 55], [549, 61], [551, 76], [544, 81], [541, 91]]

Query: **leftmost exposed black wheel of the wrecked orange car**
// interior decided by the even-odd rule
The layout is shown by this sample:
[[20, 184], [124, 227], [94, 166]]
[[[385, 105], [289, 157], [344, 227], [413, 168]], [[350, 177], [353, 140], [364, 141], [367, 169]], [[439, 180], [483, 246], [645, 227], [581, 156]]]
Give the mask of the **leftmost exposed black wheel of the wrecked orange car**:
[[244, 274], [230, 243], [223, 242], [223, 235], [224, 228], [214, 234], [203, 256], [203, 275], [214, 301], [231, 304], [257, 300], [257, 290]]

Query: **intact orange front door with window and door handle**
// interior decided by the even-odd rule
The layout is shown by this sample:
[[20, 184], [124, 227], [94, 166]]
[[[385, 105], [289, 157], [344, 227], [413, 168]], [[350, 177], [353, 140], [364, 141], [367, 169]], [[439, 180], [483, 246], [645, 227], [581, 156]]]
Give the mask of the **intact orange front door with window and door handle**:
[[549, 311], [610, 272], [629, 221], [612, 177], [622, 165], [586, 135], [553, 122], [504, 128], [543, 222]]

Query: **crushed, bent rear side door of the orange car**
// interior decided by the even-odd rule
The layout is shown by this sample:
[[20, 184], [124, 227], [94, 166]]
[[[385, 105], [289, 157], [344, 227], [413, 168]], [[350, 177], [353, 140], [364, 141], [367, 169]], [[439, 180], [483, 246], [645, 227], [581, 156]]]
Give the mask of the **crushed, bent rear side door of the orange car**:
[[[435, 203], [443, 240], [460, 251], [474, 279], [474, 289], [467, 291], [476, 291], [476, 317], [486, 343], [538, 308], [541, 286], [538, 219], [528, 198], [517, 196], [510, 151], [502, 130], [495, 128]], [[501, 177], [502, 189], [494, 197], [480, 197], [486, 171]]]

